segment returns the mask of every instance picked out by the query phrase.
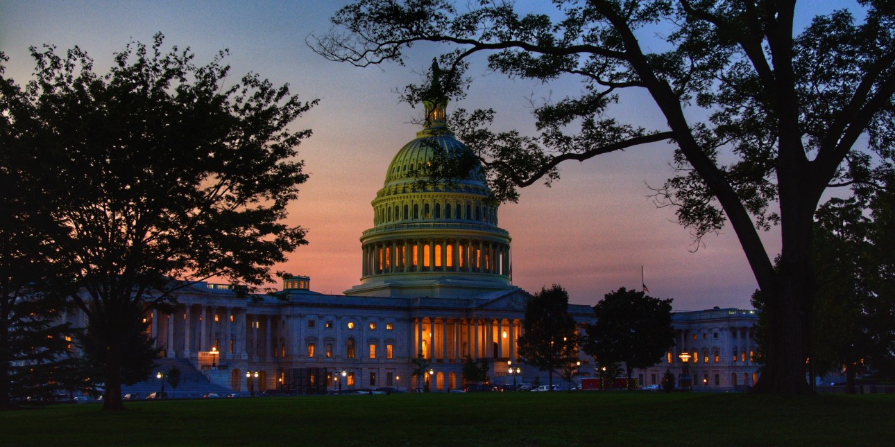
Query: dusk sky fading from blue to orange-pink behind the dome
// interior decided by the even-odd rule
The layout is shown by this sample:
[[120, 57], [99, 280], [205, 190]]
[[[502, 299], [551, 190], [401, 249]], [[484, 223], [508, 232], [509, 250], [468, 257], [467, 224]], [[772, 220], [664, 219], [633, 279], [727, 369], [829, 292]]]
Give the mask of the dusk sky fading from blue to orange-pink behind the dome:
[[[461, 2], [462, 3], [462, 2]], [[519, 2], [521, 6], [538, 2]], [[850, 3], [850, 2], [849, 2]], [[361, 233], [371, 228], [371, 200], [382, 188], [392, 156], [414, 138], [411, 123], [421, 107], [399, 103], [396, 89], [421, 80], [433, 56], [446, 46], [416, 46], [405, 66], [396, 63], [358, 68], [316, 55], [310, 35], [330, 29], [329, 18], [344, 1], [39, 1], [0, 0], [0, 51], [9, 56], [6, 76], [23, 84], [34, 69], [29, 46], [52, 44], [60, 51], [80, 46], [105, 72], [115, 52], [130, 41], [151, 43], [156, 32], [167, 46], [189, 46], [197, 63], [221, 49], [238, 79], [257, 72], [275, 85], [288, 83], [303, 100], [320, 99], [294, 129], [311, 129], [299, 156], [311, 174], [290, 206], [288, 222], [308, 229], [309, 244], [277, 266], [311, 276], [311, 289], [341, 293], [360, 283]], [[842, 2], [806, 3], [804, 21], [829, 13]], [[807, 10], [806, 8], [810, 8]], [[491, 107], [495, 129], [533, 132], [531, 102], [574, 96], [575, 79], [550, 84], [508, 80], [473, 61], [476, 80], [454, 106]], [[617, 109], [620, 121], [662, 128], [656, 106], [641, 94]], [[656, 144], [591, 160], [561, 164], [561, 179], [551, 188], [535, 184], [521, 190], [518, 203], [499, 208], [499, 226], [513, 238], [513, 283], [526, 291], [558, 283], [570, 302], [596, 304], [619, 287], [641, 288], [641, 267], [650, 295], [674, 299], [675, 310], [749, 308], [756, 288], [736, 235], [729, 227], [703, 239], [695, 249], [674, 210], [656, 207], [649, 186], [659, 187], [673, 173], [673, 148]], [[763, 234], [771, 256], [778, 229]]]

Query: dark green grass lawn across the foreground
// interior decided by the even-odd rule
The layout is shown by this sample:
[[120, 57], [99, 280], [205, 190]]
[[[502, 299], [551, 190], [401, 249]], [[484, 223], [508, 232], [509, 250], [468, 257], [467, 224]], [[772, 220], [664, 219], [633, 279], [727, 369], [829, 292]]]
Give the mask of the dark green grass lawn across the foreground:
[[0, 412], [0, 445], [892, 445], [895, 395], [503, 392]]

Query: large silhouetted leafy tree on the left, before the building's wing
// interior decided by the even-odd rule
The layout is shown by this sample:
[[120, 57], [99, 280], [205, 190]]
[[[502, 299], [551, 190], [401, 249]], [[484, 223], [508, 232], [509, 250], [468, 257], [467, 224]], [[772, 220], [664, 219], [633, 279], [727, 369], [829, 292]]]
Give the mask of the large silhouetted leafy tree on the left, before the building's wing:
[[316, 101], [254, 74], [234, 80], [226, 51], [200, 66], [189, 49], [165, 53], [163, 39], [128, 44], [104, 75], [78, 47], [32, 47], [26, 89], [0, 78], [21, 91], [8, 111], [13, 148], [32, 157], [28, 180], [66, 231], [53, 243], [99, 346], [103, 409], [124, 409], [124, 356], [141, 316], [211, 277], [257, 291], [306, 243], [282, 220], [307, 178], [295, 148], [311, 131], [287, 126]]

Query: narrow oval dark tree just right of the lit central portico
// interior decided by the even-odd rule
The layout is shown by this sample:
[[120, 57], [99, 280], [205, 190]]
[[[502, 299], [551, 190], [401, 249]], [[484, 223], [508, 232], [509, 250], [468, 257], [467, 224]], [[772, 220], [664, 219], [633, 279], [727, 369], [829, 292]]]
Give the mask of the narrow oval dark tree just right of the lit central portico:
[[541, 287], [525, 306], [523, 334], [517, 340], [519, 356], [541, 371], [547, 371], [553, 391], [553, 370], [578, 357], [575, 319], [568, 315], [568, 293], [558, 284]]

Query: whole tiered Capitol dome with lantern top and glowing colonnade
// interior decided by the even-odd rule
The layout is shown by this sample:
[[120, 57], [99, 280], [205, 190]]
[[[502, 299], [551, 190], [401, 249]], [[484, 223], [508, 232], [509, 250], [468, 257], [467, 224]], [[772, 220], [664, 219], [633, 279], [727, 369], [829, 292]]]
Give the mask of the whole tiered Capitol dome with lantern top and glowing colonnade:
[[[361, 236], [361, 284], [346, 295], [470, 298], [510, 285], [510, 237], [498, 226], [482, 166], [447, 129], [447, 99], [425, 101], [426, 122], [388, 164]], [[435, 164], [470, 166], [439, 179]], [[462, 168], [465, 171], [465, 168]]]

